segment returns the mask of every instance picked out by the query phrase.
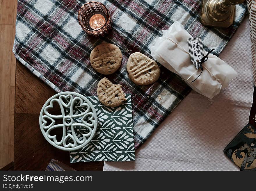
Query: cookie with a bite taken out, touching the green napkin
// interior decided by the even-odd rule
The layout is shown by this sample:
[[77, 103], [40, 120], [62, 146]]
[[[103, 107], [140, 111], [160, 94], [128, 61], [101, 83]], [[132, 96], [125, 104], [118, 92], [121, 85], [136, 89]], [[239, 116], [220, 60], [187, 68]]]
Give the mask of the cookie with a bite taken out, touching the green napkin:
[[125, 93], [121, 87], [122, 85], [113, 84], [108, 78], [102, 78], [97, 86], [99, 101], [109, 107], [120, 106], [126, 101]]

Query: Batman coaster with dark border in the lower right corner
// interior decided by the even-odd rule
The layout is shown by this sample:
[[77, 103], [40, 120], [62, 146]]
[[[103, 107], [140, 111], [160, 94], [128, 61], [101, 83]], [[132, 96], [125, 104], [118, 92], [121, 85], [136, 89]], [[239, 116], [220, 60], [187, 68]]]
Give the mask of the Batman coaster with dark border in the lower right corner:
[[256, 129], [246, 125], [227, 145], [224, 153], [241, 170], [256, 170]]

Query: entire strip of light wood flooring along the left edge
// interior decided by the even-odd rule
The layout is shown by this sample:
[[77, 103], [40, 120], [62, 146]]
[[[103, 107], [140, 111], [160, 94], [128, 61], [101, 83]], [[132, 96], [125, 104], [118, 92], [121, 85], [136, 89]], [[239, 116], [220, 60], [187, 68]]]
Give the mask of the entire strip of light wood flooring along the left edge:
[[14, 159], [16, 58], [12, 53], [17, 0], [0, 0], [0, 166]]

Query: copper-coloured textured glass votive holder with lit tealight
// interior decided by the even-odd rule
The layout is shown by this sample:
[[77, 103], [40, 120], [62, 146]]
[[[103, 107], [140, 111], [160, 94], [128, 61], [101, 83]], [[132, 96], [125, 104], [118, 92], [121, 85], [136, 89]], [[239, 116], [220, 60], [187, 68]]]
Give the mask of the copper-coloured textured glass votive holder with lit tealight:
[[[99, 18], [99, 20], [93, 20], [94, 17]], [[79, 9], [78, 22], [86, 33], [95, 37], [104, 37], [112, 30], [109, 10], [98, 1], [87, 2]]]

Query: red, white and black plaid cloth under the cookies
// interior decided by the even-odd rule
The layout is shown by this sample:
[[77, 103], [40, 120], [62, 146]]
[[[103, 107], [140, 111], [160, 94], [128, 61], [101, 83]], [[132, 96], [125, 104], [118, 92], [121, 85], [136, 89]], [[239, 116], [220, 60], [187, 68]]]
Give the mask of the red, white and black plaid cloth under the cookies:
[[[85, 96], [96, 94], [97, 83], [104, 77], [90, 65], [90, 51], [103, 40], [89, 37], [77, 21], [77, 12], [86, 1], [19, 0], [13, 52], [31, 72], [56, 92], [74, 91]], [[177, 75], [160, 65], [159, 80], [137, 86], [126, 73], [133, 52], [150, 56], [150, 45], [163, 29], [179, 21], [194, 37], [201, 35], [204, 48], [221, 53], [246, 14], [246, 5], [236, 6], [234, 25], [227, 29], [203, 27], [199, 22], [201, 1], [193, 0], [109, 0], [101, 1], [113, 19], [113, 32], [105, 42], [117, 45], [123, 55], [122, 66], [106, 76], [132, 94], [135, 148], [190, 92]]]

